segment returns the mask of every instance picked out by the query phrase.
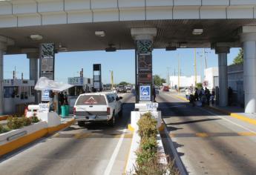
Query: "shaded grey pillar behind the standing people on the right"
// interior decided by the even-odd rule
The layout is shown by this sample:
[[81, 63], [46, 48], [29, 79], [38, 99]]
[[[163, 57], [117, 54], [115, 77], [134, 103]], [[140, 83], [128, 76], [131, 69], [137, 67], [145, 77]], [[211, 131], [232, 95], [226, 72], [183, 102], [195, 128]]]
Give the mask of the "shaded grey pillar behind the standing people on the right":
[[229, 53], [229, 47], [216, 47], [216, 53], [218, 54], [219, 65], [219, 105], [228, 105], [228, 71], [227, 71], [227, 53]]

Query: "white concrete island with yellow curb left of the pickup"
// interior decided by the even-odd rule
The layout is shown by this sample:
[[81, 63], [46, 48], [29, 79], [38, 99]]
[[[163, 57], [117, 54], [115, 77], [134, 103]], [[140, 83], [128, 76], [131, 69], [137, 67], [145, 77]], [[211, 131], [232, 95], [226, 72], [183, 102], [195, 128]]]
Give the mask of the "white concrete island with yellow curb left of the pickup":
[[47, 136], [48, 134], [67, 128], [74, 122], [73, 118], [65, 119], [65, 121], [62, 122], [61, 118], [59, 116], [54, 116], [54, 114], [56, 113], [39, 114], [40, 122], [33, 123], [7, 133], [1, 133], [0, 156], [10, 153], [17, 148], [21, 148], [22, 146], [27, 145], [36, 139], [42, 138], [43, 136]]

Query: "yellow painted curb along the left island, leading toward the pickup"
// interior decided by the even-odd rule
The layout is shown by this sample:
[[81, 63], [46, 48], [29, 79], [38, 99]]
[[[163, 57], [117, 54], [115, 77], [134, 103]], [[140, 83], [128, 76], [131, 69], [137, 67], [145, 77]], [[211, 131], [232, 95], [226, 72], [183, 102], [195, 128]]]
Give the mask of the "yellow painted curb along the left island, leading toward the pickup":
[[7, 144], [1, 145], [0, 156], [4, 155], [5, 153], [10, 153], [10, 151], [14, 151], [17, 148], [20, 148], [24, 145], [27, 145], [30, 142], [35, 141], [36, 139], [46, 136], [47, 134], [60, 131], [63, 128], [68, 127], [69, 125], [72, 125], [74, 121], [75, 119], [72, 119], [69, 122], [58, 125], [56, 127], [44, 128], [42, 130], [36, 131], [35, 133], [30, 133], [27, 136], [22, 136], [21, 138], [13, 140], [12, 142], [8, 142]]

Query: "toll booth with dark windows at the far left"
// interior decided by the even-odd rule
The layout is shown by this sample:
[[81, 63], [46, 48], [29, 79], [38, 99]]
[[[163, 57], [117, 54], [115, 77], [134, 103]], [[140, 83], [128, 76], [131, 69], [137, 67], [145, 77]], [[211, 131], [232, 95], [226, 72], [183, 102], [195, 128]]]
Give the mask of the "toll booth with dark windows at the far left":
[[25, 106], [35, 102], [35, 81], [4, 79], [4, 113], [24, 114]]

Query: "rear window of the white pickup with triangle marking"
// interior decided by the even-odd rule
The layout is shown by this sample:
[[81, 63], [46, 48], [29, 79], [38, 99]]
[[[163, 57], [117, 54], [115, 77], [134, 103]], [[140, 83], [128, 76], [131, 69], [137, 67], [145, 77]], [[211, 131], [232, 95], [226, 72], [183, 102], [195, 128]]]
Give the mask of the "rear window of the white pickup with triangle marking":
[[105, 96], [102, 95], [86, 95], [79, 96], [76, 105], [107, 105]]

